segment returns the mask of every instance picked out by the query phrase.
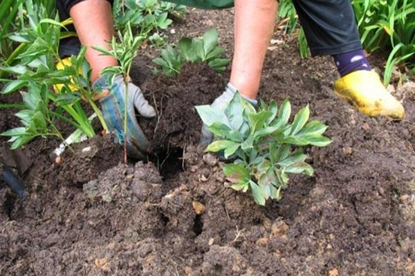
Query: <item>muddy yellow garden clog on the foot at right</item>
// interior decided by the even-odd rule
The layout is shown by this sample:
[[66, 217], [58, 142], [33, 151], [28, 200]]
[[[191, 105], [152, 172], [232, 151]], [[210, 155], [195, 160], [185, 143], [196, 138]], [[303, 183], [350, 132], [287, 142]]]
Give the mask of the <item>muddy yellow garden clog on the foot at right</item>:
[[369, 117], [383, 115], [403, 119], [405, 116], [403, 106], [387, 92], [379, 75], [374, 71], [351, 72], [335, 81], [334, 90]]

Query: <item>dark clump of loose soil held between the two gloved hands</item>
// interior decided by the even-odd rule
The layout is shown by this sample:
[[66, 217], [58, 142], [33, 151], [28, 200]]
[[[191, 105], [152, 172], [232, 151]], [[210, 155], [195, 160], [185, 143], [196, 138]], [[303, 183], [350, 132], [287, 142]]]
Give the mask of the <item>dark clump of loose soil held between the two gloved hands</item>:
[[202, 121], [194, 106], [210, 104], [225, 88], [221, 75], [207, 64], [187, 63], [178, 77], [158, 75], [142, 85], [146, 99], [157, 110], [154, 119], [140, 119], [150, 152], [183, 148], [200, 139]]

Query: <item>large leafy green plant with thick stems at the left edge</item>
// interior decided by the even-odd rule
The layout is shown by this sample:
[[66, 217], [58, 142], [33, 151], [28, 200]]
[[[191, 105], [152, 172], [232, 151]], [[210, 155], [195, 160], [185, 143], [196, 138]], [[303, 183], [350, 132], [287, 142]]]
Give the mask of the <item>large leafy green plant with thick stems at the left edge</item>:
[[[26, 2], [29, 2], [27, 0]], [[79, 128], [88, 137], [93, 137], [95, 131], [89, 121], [86, 112], [81, 106], [81, 99], [89, 102], [96, 115], [100, 119], [103, 128], [107, 128], [100, 109], [93, 101], [93, 92], [89, 86], [91, 70], [89, 64], [85, 61], [86, 48], [82, 48], [80, 55], [71, 57], [71, 64], [64, 63], [59, 56], [59, 39], [62, 37], [62, 23], [55, 20], [42, 17], [46, 14], [42, 6], [33, 6], [27, 9], [26, 18], [21, 19], [25, 25], [19, 30], [9, 34], [9, 38], [21, 43], [19, 51], [13, 52], [13, 61], [17, 64], [10, 66], [5, 63], [1, 66], [2, 72], [14, 75], [15, 79], [7, 79], [6, 86], [1, 91], [3, 94], [24, 90], [27, 94], [26, 99], [42, 99], [36, 104], [25, 105], [25, 114], [32, 110], [39, 117], [44, 116], [45, 124], [35, 124], [38, 121], [26, 121], [22, 119], [24, 128], [19, 131], [6, 132], [3, 135], [10, 136], [13, 134], [12, 147], [23, 146], [31, 139], [47, 136], [46, 133], [55, 133], [58, 130], [55, 127], [55, 120], [60, 119], [75, 128]], [[11, 56], [10, 56], [11, 57]], [[58, 70], [55, 62], [59, 61], [63, 69]], [[59, 87], [57, 94], [49, 88]], [[48, 89], [45, 89], [48, 88]], [[30, 101], [26, 101], [30, 102]], [[37, 106], [35, 108], [35, 106]], [[50, 109], [53, 108], [54, 111]], [[48, 111], [45, 111], [48, 110]], [[18, 113], [17, 116], [20, 113]], [[42, 121], [43, 122], [43, 121]], [[24, 129], [26, 132], [24, 132]], [[48, 131], [46, 131], [48, 130]], [[50, 132], [49, 130], [53, 130]], [[19, 138], [20, 137], [20, 138]]]

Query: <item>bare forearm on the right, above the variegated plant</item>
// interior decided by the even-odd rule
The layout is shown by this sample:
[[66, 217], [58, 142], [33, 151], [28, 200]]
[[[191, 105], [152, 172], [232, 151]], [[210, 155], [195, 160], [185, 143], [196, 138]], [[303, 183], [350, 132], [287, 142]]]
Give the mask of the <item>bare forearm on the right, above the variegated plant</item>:
[[258, 94], [277, 8], [277, 0], [235, 1], [235, 46], [230, 83], [249, 99], [255, 99]]

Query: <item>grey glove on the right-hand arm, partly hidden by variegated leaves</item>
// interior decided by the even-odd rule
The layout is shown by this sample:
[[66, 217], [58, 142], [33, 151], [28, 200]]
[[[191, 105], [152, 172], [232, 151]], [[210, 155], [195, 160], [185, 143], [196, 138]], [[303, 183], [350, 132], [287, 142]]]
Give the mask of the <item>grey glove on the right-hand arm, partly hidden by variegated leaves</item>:
[[[228, 103], [230, 103], [230, 101], [233, 99], [237, 91], [238, 91], [237, 88], [235, 88], [232, 85], [232, 83], [228, 83], [228, 85], [225, 88], [225, 91], [222, 93], [222, 95], [220, 95], [213, 101], [211, 106], [214, 108], [220, 108], [221, 110], [225, 110], [225, 108], [228, 106]], [[255, 99], [248, 99], [246, 97], [243, 97], [243, 99], [246, 99], [246, 101], [251, 103], [252, 106], [256, 106], [258, 104], [258, 101]], [[201, 131], [201, 139], [199, 140], [199, 144], [203, 146], [207, 146], [208, 144], [212, 142], [212, 140], [213, 140], [213, 133], [208, 130], [208, 126], [203, 124], [202, 131]]]

